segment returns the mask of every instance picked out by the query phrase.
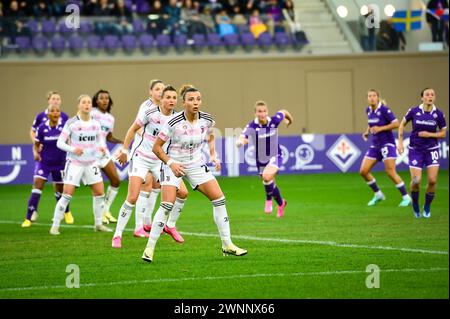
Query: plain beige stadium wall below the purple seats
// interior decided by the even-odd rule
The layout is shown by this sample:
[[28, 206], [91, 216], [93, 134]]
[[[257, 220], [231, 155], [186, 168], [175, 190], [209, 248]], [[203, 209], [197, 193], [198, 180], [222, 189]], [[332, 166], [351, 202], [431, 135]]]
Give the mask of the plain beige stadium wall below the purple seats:
[[115, 133], [123, 138], [148, 82], [160, 78], [176, 87], [195, 84], [203, 110], [221, 130], [243, 127], [253, 104], [263, 99], [273, 113], [286, 108], [295, 123], [283, 135], [354, 133], [367, 125], [366, 92], [381, 91], [400, 119], [420, 103], [424, 87], [437, 92], [437, 106], [448, 118], [447, 53], [362, 54], [322, 57], [161, 58], [158, 60], [0, 62], [2, 125], [0, 143], [27, 143], [36, 113], [46, 107], [48, 90], [61, 92], [63, 110], [76, 113], [76, 98], [100, 88], [111, 92]]

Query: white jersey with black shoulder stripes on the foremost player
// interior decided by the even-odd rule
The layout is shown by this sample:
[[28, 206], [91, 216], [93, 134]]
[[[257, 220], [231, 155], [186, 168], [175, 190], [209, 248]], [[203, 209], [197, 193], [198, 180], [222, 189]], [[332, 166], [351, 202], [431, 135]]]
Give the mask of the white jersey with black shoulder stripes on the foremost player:
[[182, 111], [162, 126], [158, 137], [163, 141], [170, 139], [167, 154], [171, 159], [182, 163], [185, 168], [199, 167], [205, 164], [202, 147], [214, 124], [211, 115], [204, 112], [198, 112], [198, 119], [192, 124]]

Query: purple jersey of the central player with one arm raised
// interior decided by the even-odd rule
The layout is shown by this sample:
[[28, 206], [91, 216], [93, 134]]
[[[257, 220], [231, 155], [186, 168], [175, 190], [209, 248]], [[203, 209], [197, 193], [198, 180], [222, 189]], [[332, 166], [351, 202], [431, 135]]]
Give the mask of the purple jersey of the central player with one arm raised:
[[264, 125], [260, 124], [258, 119], [254, 119], [247, 124], [242, 132], [245, 138], [251, 137], [253, 140], [257, 165], [265, 165], [272, 157], [281, 156], [277, 127], [283, 119], [284, 114], [282, 112], [267, 117], [267, 123]]

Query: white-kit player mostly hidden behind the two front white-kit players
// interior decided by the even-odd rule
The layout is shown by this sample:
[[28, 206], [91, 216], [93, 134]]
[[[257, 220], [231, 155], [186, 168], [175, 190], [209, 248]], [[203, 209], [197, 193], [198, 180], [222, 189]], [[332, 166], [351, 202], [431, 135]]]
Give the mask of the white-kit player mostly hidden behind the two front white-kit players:
[[[164, 83], [161, 80], [153, 79], [149, 84], [149, 98], [145, 100], [139, 107], [139, 111], [148, 109], [152, 105], [159, 106], [161, 103], [161, 93], [164, 89]], [[143, 129], [138, 130], [134, 136], [134, 142], [131, 147], [130, 154], [141, 140]], [[141, 185], [141, 191], [136, 201], [136, 224], [143, 224], [142, 229], [134, 232], [137, 237], [148, 237], [148, 231], [150, 231], [152, 224], [152, 212], [155, 208], [156, 200], [158, 199], [161, 186], [158, 181], [153, 177], [151, 172], [147, 173], [144, 184]]]

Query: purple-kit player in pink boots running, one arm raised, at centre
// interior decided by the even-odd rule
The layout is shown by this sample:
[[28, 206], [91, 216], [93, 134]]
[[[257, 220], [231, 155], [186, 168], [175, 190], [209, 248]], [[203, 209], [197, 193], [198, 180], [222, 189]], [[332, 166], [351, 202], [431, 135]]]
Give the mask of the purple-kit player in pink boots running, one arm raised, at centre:
[[[249, 137], [253, 139], [255, 144], [256, 166], [262, 177], [266, 191], [264, 211], [266, 214], [272, 212], [273, 197], [278, 204], [277, 217], [283, 217], [287, 201], [283, 199], [280, 189], [275, 184], [275, 176], [283, 163], [281, 148], [278, 144], [277, 127], [282, 121], [285, 121], [289, 126], [293, 118], [286, 110], [280, 110], [272, 117], [269, 117], [268, 114], [269, 109], [267, 104], [264, 101], [256, 102], [256, 118], [247, 124], [242, 135], [236, 142], [236, 146], [240, 147], [247, 144]], [[267, 154], [269, 155], [267, 156]]]

